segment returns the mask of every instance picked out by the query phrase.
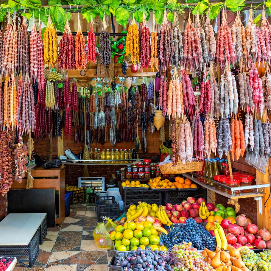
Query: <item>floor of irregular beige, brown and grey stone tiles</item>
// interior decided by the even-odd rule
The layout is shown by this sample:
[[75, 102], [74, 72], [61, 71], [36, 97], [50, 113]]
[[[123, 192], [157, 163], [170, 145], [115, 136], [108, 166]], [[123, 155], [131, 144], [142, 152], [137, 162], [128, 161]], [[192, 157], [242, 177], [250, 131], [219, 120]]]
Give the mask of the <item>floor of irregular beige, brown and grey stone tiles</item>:
[[34, 266], [17, 264], [14, 271], [108, 271], [113, 250], [94, 244], [92, 232], [97, 223], [93, 205], [71, 205], [70, 216], [61, 227], [47, 228]]

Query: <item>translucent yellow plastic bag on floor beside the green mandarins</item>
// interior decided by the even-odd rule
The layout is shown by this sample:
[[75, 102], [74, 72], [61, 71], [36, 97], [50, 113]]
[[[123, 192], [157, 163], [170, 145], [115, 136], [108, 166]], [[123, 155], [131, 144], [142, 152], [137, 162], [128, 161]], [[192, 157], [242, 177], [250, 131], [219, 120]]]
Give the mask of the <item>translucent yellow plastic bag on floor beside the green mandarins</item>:
[[104, 221], [98, 223], [93, 231], [94, 242], [97, 247], [110, 249], [113, 248], [112, 240], [110, 239], [110, 234], [105, 228]]

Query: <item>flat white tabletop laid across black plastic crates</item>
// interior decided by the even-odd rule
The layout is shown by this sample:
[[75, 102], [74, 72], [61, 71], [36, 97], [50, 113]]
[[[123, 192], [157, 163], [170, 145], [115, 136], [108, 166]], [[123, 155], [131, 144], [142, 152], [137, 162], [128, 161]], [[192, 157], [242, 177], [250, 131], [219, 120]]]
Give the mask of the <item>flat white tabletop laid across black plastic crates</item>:
[[[28, 245], [46, 213], [9, 214], [0, 222], [0, 246]], [[1, 255], [5, 256], [5, 255]]]

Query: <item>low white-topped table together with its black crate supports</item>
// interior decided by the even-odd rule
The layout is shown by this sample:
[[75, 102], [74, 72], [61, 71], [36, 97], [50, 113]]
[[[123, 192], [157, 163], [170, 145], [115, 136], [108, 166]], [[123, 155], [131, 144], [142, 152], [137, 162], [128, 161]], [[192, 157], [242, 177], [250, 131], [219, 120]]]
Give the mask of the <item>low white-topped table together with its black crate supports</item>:
[[0, 255], [16, 257], [19, 263], [32, 267], [46, 236], [46, 213], [9, 214], [0, 222], [0, 232]]

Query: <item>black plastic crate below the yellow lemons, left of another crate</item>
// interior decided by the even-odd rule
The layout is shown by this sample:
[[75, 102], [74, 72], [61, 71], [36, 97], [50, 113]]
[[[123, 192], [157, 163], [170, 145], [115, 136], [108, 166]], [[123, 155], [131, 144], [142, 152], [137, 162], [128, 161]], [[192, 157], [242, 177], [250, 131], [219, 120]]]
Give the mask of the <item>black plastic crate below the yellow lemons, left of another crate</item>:
[[124, 190], [124, 210], [127, 211], [131, 204], [137, 205], [139, 201], [160, 205], [162, 203], [162, 193], [163, 192], [152, 190], [126, 189]]

